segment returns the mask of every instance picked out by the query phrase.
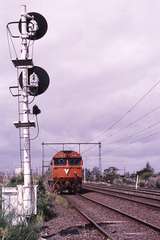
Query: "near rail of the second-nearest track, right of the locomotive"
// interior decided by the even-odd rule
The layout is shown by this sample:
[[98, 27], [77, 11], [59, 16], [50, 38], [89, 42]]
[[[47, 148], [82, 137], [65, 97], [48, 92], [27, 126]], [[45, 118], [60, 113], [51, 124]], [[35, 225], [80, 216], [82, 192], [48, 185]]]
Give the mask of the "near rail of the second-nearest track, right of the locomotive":
[[[108, 196], [112, 196], [112, 197], [116, 197], [116, 198], [120, 198], [120, 199], [125, 199], [125, 200], [128, 200], [130, 202], [135, 202], [135, 203], [140, 203], [140, 204], [143, 204], [143, 205], [146, 205], [146, 206], [150, 206], [150, 207], [155, 207], [155, 208], [158, 208], [160, 209], [160, 204], [156, 204], [156, 203], [149, 203], [149, 202], [142, 202], [141, 200], [135, 200], [135, 199], [131, 199], [129, 197], [125, 197], [125, 196], [118, 196], [118, 195], [114, 195], [114, 193], [108, 193], [106, 192], [107, 189], [100, 189], [98, 187], [86, 187], [84, 186], [83, 189], [86, 189], [86, 190], [91, 190], [93, 192], [97, 192], [97, 193], [101, 193], [101, 194], [104, 194], [104, 195], [108, 195]], [[117, 192], [116, 192], [117, 193]], [[139, 197], [139, 196], [134, 196], [133, 197]], [[146, 198], [147, 199], [147, 198]], [[152, 200], [155, 200], [155, 201], [158, 201], [157, 199], [152, 199]]]

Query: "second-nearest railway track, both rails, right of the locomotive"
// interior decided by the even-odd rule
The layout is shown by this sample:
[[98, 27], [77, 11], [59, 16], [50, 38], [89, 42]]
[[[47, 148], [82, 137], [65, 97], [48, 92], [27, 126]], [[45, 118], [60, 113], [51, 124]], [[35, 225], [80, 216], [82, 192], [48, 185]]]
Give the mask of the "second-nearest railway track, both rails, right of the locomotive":
[[102, 187], [97, 187], [92, 185], [83, 185], [83, 189], [160, 209], [160, 199], [155, 199], [155, 198], [144, 196], [144, 195], [143, 196], [135, 195], [130, 192], [126, 193], [126, 191], [118, 192], [117, 189], [115, 191], [115, 190], [110, 190], [108, 188], [102, 188]]

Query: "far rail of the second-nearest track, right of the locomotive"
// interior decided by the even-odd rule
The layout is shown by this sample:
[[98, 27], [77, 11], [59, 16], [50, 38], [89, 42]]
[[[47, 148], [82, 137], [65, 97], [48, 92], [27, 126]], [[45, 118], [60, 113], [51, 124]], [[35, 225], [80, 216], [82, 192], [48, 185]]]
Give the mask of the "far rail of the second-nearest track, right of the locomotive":
[[[83, 184], [83, 186], [88, 186], [88, 187], [91, 187], [91, 185], [89, 184]], [[144, 199], [150, 199], [150, 200], [155, 200], [155, 201], [160, 201], [160, 199], [157, 199], [157, 198], [154, 198], [154, 197], [148, 197], [148, 196], [144, 196], [144, 195], [141, 195], [141, 194], [146, 194], [146, 193], [138, 193], [138, 194], [133, 194], [132, 190], [121, 190], [121, 189], [112, 189], [110, 187], [98, 187], [98, 186], [93, 186], [92, 187], [94, 188], [101, 188], [101, 189], [104, 189], [106, 191], [109, 191], [109, 192], [114, 192], [114, 193], [122, 193], [124, 195], [130, 195], [130, 196], [134, 196], [134, 197], [141, 197], [141, 198], [144, 198]], [[148, 193], [147, 193], [148, 194]], [[150, 194], [151, 195], [151, 194]], [[154, 194], [153, 194], [154, 195]], [[157, 195], [156, 195], [157, 196]], [[160, 197], [160, 195], [158, 195]]]

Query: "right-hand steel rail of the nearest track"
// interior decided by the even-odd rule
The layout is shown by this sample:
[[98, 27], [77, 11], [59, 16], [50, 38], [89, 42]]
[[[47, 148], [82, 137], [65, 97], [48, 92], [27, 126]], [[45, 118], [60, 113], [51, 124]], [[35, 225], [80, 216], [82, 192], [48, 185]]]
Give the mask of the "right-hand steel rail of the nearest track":
[[141, 218], [136, 218], [136, 217], [134, 217], [134, 216], [132, 216], [132, 215], [130, 215], [130, 214], [128, 214], [128, 213], [122, 212], [121, 210], [119, 210], [119, 209], [117, 209], [117, 208], [113, 208], [113, 207], [111, 207], [111, 206], [108, 206], [107, 204], [101, 203], [101, 202], [96, 201], [96, 200], [94, 200], [94, 199], [91, 199], [91, 198], [89, 198], [89, 197], [87, 197], [87, 196], [84, 196], [84, 195], [81, 195], [81, 194], [80, 194], [80, 196], [81, 196], [82, 198], [84, 198], [84, 199], [87, 199], [87, 200], [93, 202], [93, 203], [99, 204], [100, 206], [103, 206], [103, 207], [105, 207], [105, 208], [108, 208], [108, 209], [111, 209], [111, 210], [113, 210], [113, 211], [115, 211], [115, 212], [118, 212], [118, 213], [122, 214], [122, 215], [125, 216], [125, 217], [129, 217], [130, 219], [132, 219], [132, 220], [134, 220], [134, 221], [136, 221], [136, 222], [139, 222], [139, 223], [141, 223], [141, 224], [143, 224], [143, 225], [145, 225], [145, 226], [148, 226], [148, 227], [152, 228], [152, 229], [155, 230], [155, 231], [160, 232], [160, 227], [157, 226], [157, 225], [154, 225], [154, 224], [151, 224], [151, 223], [149, 223], [149, 222], [146, 222], [146, 221], [144, 221], [144, 220], [141, 219]]

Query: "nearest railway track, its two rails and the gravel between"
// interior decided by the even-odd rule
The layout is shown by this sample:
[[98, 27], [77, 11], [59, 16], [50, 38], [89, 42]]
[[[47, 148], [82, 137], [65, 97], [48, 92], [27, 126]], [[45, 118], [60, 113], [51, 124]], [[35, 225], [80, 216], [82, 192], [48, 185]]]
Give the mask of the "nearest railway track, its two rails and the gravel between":
[[[123, 226], [121, 225], [121, 227], [122, 227], [122, 229], [121, 229], [121, 227], [118, 227], [119, 228], [119, 230], [117, 231], [117, 230], [113, 230], [113, 231], [110, 231], [109, 229], [106, 231], [106, 229], [105, 228], [102, 228], [101, 226], [100, 226], [100, 229], [102, 229], [102, 231], [101, 232], [103, 232], [104, 234], [106, 234], [106, 235], [104, 235], [105, 237], [107, 237], [107, 238], [105, 238], [105, 239], [154, 239], [154, 240], [158, 240], [158, 239], [160, 239], [160, 226], [157, 226], [157, 225], [155, 225], [155, 224], [152, 224], [152, 223], [149, 223], [149, 222], [147, 222], [147, 221], [145, 221], [145, 220], [143, 220], [143, 219], [141, 219], [141, 218], [138, 218], [138, 217], [135, 217], [135, 216], [132, 216], [131, 214], [128, 214], [128, 213], [126, 213], [126, 212], [124, 212], [124, 211], [121, 211], [121, 210], [119, 210], [119, 209], [117, 209], [117, 208], [114, 208], [114, 207], [111, 207], [111, 206], [109, 206], [108, 204], [104, 204], [104, 203], [102, 203], [101, 201], [98, 201], [98, 200], [95, 200], [95, 199], [92, 199], [91, 197], [88, 197], [88, 196], [86, 196], [86, 195], [79, 195], [80, 197], [81, 197], [81, 199], [84, 199], [84, 201], [89, 201], [89, 202], [91, 202], [91, 203], [93, 203], [93, 204], [96, 204], [95, 205], [95, 207], [94, 207], [94, 209], [96, 210], [96, 208], [98, 208], [98, 206], [100, 206], [100, 207], [103, 207], [103, 208], [105, 208], [105, 209], [107, 209], [107, 210], [109, 210], [109, 211], [112, 211], [112, 214], [117, 214], [116, 215], [116, 221], [115, 221], [115, 229], [117, 229], [117, 226], [119, 225], [120, 226], [120, 222], [123, 222]], [[67, 198], [68, 199], [68, 198]], [[70, 201], [70, 200], [69, 200]], [[96, 220], [94, 220], [94, 212], [92, 212], [92, 213], [86, 213], [86, 211], [88, 211], [88, 209], [90, 209], [90, 206], [88, 205], [88, 207], [85, 207], [85, 211], [84, 211], [84, 209], [81, 209], [81, 204], [80, 204], [80, 206], [79, 206], [79, 199], [77, 198], [77, 199], [75, 199], [74, 201], [71, 201], [72, 202], [72, 206], [74, 207], [74, 208], [76, 208], [77, 209], [77, 211], [80, 213], [80, 214], [82, 214], [84, 217], [86, 217], [86, 219], [88, 219], [93, 225], [94, 225], [94, 227], [96, 227], [97, 228], [97, 225], [99, 226], [100, 224], [97, 224], [97, 221]], [[84, 208], [84, 207], [83, 207]], [[105, 212], [105, 210], [102, 210], [102, 213], [104, 214], [104, 212]], [[91, 217], [93, 215], [93, 218]], [[106, 216], [107, 216], [107, 214], [106, 214]], [[120, 216], [121, 217], [123, 217], [124, 218], [124, 220], [120, 220], [120, 221], [117, 221], [117, 219], [119, 219], [120, 218]], [[114, 219], [115, 219], [115, 216], [114, 216]], [[109, 225], [111, 225], [111, 222], [114, 222], [114, 219], [110, 219], [109, 221], [106, 221], [106, 226], [108, 227]], [[127, 220], [126, 220], [127, 219]], [[105, 221], [104, 221], [105, 222]], [[132, 222], [132, 223], [131, 223]], [[125, 225], [125, 226], [124, 226]], [[134, 231], [134, 232], [132, 232], [131, 231], [131, 233], [128, 233], [128, 234], [133, 234], [132, 236], [130, 236], [130, 237], [125, 237], [124, 238], [124, 235], [127, 235], [127, 230], [128, 230], [128, 225], [134, 225], [134, 226], [136, 226], [136, 230]], [[124, 228], [125, 228], [125, 230], [126, 230], [126, 233], [124, 232]], [[141, 230], [142, 232], [140, 232], [140, 230], [139, 229], [143, 229], [143, 230]], [[148, 229], [148, 230], [147, 230]], [[149, 237], [149, 234], [147, 235], [147, 237], [149, 237], [149, 238], [147, 238], [146, 236], [143, 238], [143, 234], [146, 232], [146, 231], [153, 231], [153, 232], [155, 232], [154, 234], [156, 235], [156, 234], [158, 234], [158, 237]], [[113, 232], [113, 233], [112, 233]], [[123, 232], [123, 234], [122, 234], [122, 232]], [[153, 235], [154, 235], [153, 234]], [[122, 236], [123, 235], [123, 236]], [[152, 234], [151, 234], [151, 236], [152, 236]]]

